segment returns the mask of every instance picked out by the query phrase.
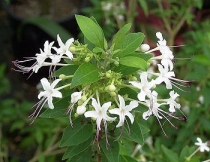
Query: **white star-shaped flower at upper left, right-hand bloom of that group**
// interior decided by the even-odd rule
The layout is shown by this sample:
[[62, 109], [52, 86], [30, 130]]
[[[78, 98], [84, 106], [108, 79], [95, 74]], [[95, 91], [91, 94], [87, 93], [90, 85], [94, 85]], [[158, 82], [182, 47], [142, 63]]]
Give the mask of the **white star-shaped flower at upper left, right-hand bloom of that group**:
[[66, 54], [70, 60], [73, 59], [73, 54], [70, 52], [69, 48], [71, 46], [71, 44], [74, 42], [74, 38], [70, 38], [66, 41], [66, 43], [64, 44], [60, 38], [59, 35], [57, 35], [57, 41], [58, 41], [58, 44], [60, 46], [60, 48], [53, 48], [57, 54], [59, 55], [63, 55], [63, 54]]

